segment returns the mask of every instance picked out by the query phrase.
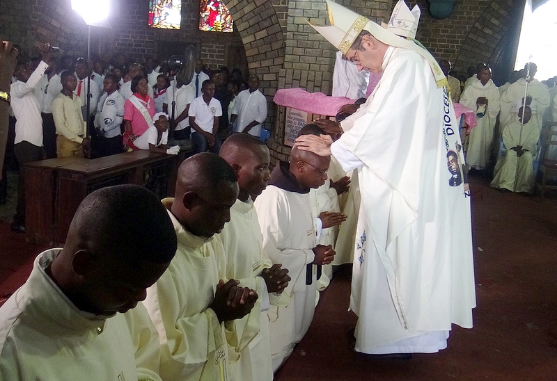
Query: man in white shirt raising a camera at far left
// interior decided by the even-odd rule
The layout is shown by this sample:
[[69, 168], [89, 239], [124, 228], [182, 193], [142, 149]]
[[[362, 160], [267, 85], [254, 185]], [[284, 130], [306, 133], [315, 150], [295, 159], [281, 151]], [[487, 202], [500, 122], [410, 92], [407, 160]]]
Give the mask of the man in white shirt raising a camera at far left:
[[15, 115], [14, 152], [19, 163], [19, 180], [17, 182], [17, 206], [11, 225], [12, 230], [25, 231], [25, 163], [43, 158], [42, 118], [40, 104], [34, 93], [50, 60], [49, 44], [42, 44], [42, 60], [35, 71], [31, 72], [29, 64], [20, 63], [15, 67], [17, 81], [12, 83], [10, 93], [12, 110]]

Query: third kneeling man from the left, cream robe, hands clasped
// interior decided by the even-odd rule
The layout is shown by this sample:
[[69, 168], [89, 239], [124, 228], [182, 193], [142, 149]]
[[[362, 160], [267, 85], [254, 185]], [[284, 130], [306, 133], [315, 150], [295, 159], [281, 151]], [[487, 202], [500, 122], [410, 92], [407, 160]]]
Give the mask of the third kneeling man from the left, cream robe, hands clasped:
[[261, 228], [251, 199], [261, 194], [271, 177], [269, 149], [254, 136], [235, 133], [225, 140], [219, 155], [236, 172], [240, 186], [238, 198], [230, 208], [230, 222], [220, 234], [226, 252], [226, 277], [238, 279], [241, 286], [248, 286], [260, 295], [249, 315], [231, 322], [235, 329], [226, 331], [230, 374], [237, 381], [272, 381], [266, 311], [271, 306], [288, 305], [290, 300], [283, 291], [290, 277], [288, 270], [281, 268], [281, 264], [272, 264], [263, 250]]

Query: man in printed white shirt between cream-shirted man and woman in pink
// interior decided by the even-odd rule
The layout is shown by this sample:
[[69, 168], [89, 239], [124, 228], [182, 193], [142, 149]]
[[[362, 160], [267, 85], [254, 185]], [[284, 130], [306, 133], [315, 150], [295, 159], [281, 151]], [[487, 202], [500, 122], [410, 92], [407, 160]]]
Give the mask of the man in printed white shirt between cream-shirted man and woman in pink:
[[118, 77], [109, 73], [104, 76], [104, 93], [100, 97], [95, 115], [95, 149], [98, 157], [121, 154], [122, 121], [125, 99], [118, 92]]

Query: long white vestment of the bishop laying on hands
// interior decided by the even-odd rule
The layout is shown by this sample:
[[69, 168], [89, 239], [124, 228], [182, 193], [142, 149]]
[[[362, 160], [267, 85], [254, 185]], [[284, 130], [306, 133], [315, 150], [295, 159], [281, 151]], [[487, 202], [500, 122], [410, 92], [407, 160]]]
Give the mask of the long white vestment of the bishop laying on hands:
[[447, 88], [416, 52], [389, 47], [382, 68], [331, 146], [360, 180], [356, 350], [437, 352], [453, 323], [472, 327], [476, 306], [469, 191], [447, 159], [454, 151], [463, 163], [458, 122]]

